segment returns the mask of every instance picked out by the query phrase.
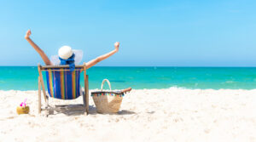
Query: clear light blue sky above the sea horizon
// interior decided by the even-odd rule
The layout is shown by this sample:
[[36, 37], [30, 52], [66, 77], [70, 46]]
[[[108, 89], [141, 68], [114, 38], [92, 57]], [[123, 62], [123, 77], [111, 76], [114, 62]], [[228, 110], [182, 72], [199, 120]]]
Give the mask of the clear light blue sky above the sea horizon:
[[69, 45], [98, 65], [256, 66], [256, 1], [0, 1], [0, 65], [37, 65]]

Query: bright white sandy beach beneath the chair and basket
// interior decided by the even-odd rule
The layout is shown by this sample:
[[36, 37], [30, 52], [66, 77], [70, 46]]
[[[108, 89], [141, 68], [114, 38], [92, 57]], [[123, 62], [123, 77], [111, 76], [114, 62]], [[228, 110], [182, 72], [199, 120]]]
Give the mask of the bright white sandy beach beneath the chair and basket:
[[[16, 114], [28, 99], [29, 115]], [[82, 103], [54, 100], [56, 105]], [[38, 115], [36, 91], [0, 91], [0, 141], [256, 141], [256, 89], [133, 90], [117, 115]], [[52, 103], [52, 102], [51, 102]]]

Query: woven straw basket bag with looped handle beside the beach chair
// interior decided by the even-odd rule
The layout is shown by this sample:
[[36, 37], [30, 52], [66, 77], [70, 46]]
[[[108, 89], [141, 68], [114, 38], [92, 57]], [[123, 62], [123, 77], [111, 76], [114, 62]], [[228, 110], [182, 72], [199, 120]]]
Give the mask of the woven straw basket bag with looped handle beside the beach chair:
[[[103, 91], [104, 82], [108, 82], [110, 91]], [[102, 81], [101, 91], [92, 92], [91, 96], [96, 105], [96, 111], [99, 113], [116, 113], [119, 111], [124, 92], [112, 91], [108, 79]]]

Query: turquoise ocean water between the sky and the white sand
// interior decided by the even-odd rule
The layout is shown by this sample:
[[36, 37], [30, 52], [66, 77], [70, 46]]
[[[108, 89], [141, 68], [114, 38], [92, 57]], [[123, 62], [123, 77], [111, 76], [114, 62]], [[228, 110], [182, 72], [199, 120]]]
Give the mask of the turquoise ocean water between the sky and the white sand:
[[[87, 73], [90, 89], [100, 88], [104, 78], [108, 78], [113, 89], [256, 88], [254, 67], [92, 67]], [[81, 81], [83, 84], [83, 79]], [[104, 88], [108, 88], [107, 83]], [[38, 89], [38, 68], [0, 66], [0, 90], [10, 89]]]

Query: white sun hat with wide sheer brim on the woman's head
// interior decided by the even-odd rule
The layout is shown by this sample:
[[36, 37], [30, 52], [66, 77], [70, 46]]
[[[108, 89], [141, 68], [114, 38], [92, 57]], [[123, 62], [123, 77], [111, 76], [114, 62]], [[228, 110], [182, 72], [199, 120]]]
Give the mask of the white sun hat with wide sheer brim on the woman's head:
[[59, 48], [58, 55], [56, 54], [56, 55], [51, 56], [50, 61], [53, 65], [60, 65], [61, 60], [59, 59], [59, 57], [63, 60], [67, 60], [73, 54], [75, 55], [74, 56], [75, 65], [79, 65], [79, 63], [83, 59], [83, 51], [72, 49], [69, 46], [62, 46], [61, 48]]

